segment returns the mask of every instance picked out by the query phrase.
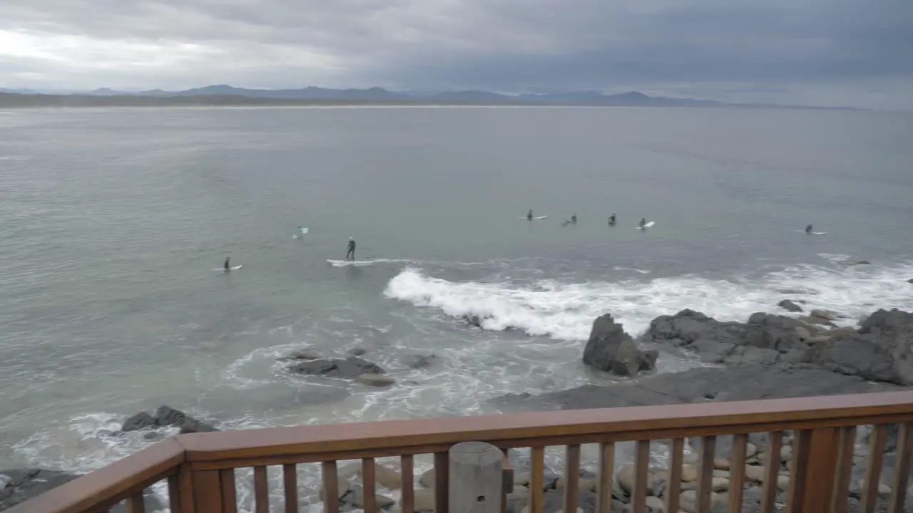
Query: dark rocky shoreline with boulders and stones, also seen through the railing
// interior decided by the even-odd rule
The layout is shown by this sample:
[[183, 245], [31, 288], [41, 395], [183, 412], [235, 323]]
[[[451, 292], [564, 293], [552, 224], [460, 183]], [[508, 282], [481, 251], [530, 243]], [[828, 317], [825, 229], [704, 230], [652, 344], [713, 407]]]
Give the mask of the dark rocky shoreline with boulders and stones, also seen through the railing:
[[[784, 310], [799, 313], [803, 307], [783, 301]], [[804, 312], [801, 312], [804, 313]], [[648, 330], [635, 340], [611, 315], [596, 319], [593, 331], [582, 354], [584, 364], [626, 379], [606, 385], [585, 385], [571, 390], [533, 395], [508, 394], [488, 403], [504, 412], [542, 411], [615, 406], [662, 405], [674, 403], [706, 403], [747, 401], [782, 397], [832, 395], [845, 393], [875, 393], [903, 390], [913, 386], [913, 314], [898, 309], [877, 310], [863, 319], [858, 327], [836, 326], [839, 315], [824, 310], [811, 310], [799, 318], [768, 313], [756, 313], [746, 322], [723, 322], [693, 310], [654, 319]], [[296, 351], [283, 361], [289, 361], [292, 373], [348, 379], [368, 386], [393, 386], [396, 380], [380, 366], [362, 360], [364, 351], [353, 350], [344, 359], [325, 359], [307, 350]], [[651, 371], [664, 354], [698, 359], [706, 366], [685, 372], [656, 374]], [[415, 355], [404, 362], [409, 367], [432, 364], [434, 355]], [[180, 433], [215, 431], [215, 427], [193, 417], [162, 406], [154, 414], [142, 412], [126, 419], [122, 432], [146, 430], [146, 437], [162, 437], [166, 430]], [[760, 510], [760, 479], [765, 461], [766, 435], [750, 435], [750, 459], [746, 467], [748, 487], [743, 511]], [[857, 433], [853, 485], [849, 510], [858, 508], [860, 480], [864, 475], [867, 455], [866, 428]], [[885, 468], [881, 476], [879, 508], [893, 477], [896, 455], [896, 430], [888, 443]], [[789, 480], [787, 464], [792, 446], [789, 435], [781, 451], [778, 485], [785, 487]], [[699, 441], [689, 441], [690, 445]], [[727, 445], [729, 444], [729, 445]], [[661, 442], [655, 442], [657, 450]], [[718, 460], [714, 472], [714, 504], [725, 505], [729, 490], [729, 460], [726, 447], [731, 437], [719, 437]], [[519, 453], [513, 455], [520, 471], [515, 474], [514, 492], [509, 496], [509, 513], [528, 510], [529, 475], [521, 471], [527, 465]], [[630, 502], [633, 469], [616, 462], [614, 500], [619, 508]], [[693, 511], [696, 470], [692, 456], [686, 455], [681, 484], [681, 509]], [[686, 470], [687, 468], [687, 470]], [[362, 508], [360, 466], [340, 469], [340, 497], [343, 510]], [[391, 495], [402, 486], [402, 476], [393, 466], [378, 464], [375, 475], [379, 507], [397, 509]], [[75, 478], [73, 474], [42, 469], [0, 470], [0, 510], [10, 508], [29, 497]], [[692, 478], [693, 477], [693, 478]], [[656, 466], [650, 471], [650, 511], [662, 511], [661, 502], [666, 489], [666, 469]], [[421, 487], [415, 490], [415, 510], [430, 511], [434, 507], [434, 479], [427, 474], [417, 476]], [[595, 476], [581, 472], [580, 510], [592, 513], [595, 508]], [[561, 490], [563, 478], [551, 472], [545, 480], [545, 511], [555, 513], [563, 507]], [[384, 492], [384, 490], [387, 490]], [[782, 496], [783, 489], [780, 494]], [[908, 504], [913, 505], [913, 487], [908, 489]], [[782, 497], [781, 497], [782, 498]], [[321, 500], [322, 498], [315, 498]], [[781, 501], [782, 503], [782, 501]], [[148, 510], [163, 505], [147, 497]], [[778, 505], [778, 508], [781, 508]], [[623, 509], [618, 509], [619, 511]], [[884, 509], [887, 510], [887, 509]]]

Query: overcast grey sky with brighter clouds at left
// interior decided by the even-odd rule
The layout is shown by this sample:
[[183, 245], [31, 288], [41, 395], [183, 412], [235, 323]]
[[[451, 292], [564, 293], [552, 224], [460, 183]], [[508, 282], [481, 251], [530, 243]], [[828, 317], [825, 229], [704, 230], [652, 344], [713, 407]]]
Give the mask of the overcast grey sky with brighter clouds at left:
[[217, 83], [913, 109], [913, 0], [0, 0], [0, 88]]

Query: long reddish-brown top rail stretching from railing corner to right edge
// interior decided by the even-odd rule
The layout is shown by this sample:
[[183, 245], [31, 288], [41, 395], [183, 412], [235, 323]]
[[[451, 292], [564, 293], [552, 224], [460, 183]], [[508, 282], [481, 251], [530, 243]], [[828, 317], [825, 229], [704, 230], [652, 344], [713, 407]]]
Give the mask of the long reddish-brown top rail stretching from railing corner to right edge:
[[[473, 440], [498, 445], [505, 441], [527, 443], [534, 438], [623, 433], [657, 439], [662, 436], [650, 433], [676, 430], [687, 430], [692, 435], [731, 434], [739, 430], [757, 433], [805, 425], [877, 424], [879, 417], [896, 419], [905, 415], [913, 420], [913, 392], [274, 427], [181, 434], [178, 440], [184, 445], [188, 462], [202, 462], [410, 447], [428, 452], [429, 447]], [[402, 453], [396, 453], [399, 454]]]

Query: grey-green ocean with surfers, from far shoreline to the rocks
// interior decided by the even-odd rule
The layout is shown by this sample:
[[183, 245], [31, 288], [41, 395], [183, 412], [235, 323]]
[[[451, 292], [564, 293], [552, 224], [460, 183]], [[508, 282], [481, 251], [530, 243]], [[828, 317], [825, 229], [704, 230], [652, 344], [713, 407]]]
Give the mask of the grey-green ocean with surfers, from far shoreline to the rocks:
[[[221, 429], [490, 413], [609, 381], [581, 362], [606, 312], [637, 335], [913, 309], [911, 141], [876, 111], [0, 111], [0, 469], [103, 466], [160, 404]], [[328, 262], [349, 237], [362, 264]], [[302, 348], [398, 383], [290, 375]]]

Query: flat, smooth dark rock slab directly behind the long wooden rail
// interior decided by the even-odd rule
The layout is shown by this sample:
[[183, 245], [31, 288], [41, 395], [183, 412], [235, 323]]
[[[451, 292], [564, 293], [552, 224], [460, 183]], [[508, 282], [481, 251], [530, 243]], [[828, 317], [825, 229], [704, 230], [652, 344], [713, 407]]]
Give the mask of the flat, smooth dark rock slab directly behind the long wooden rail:
[[685, 372], [649, 375], [636, 382], [584, 385], [541, 395], [509, 394], [497, 397], [490, 403], [512, 411], [575, 410], [894, 390], [898, 390], [894, 385], [866, 382], [857, 376], [845, 376], [814, 366], [781, 363], [772, 366], [690, 369]]

